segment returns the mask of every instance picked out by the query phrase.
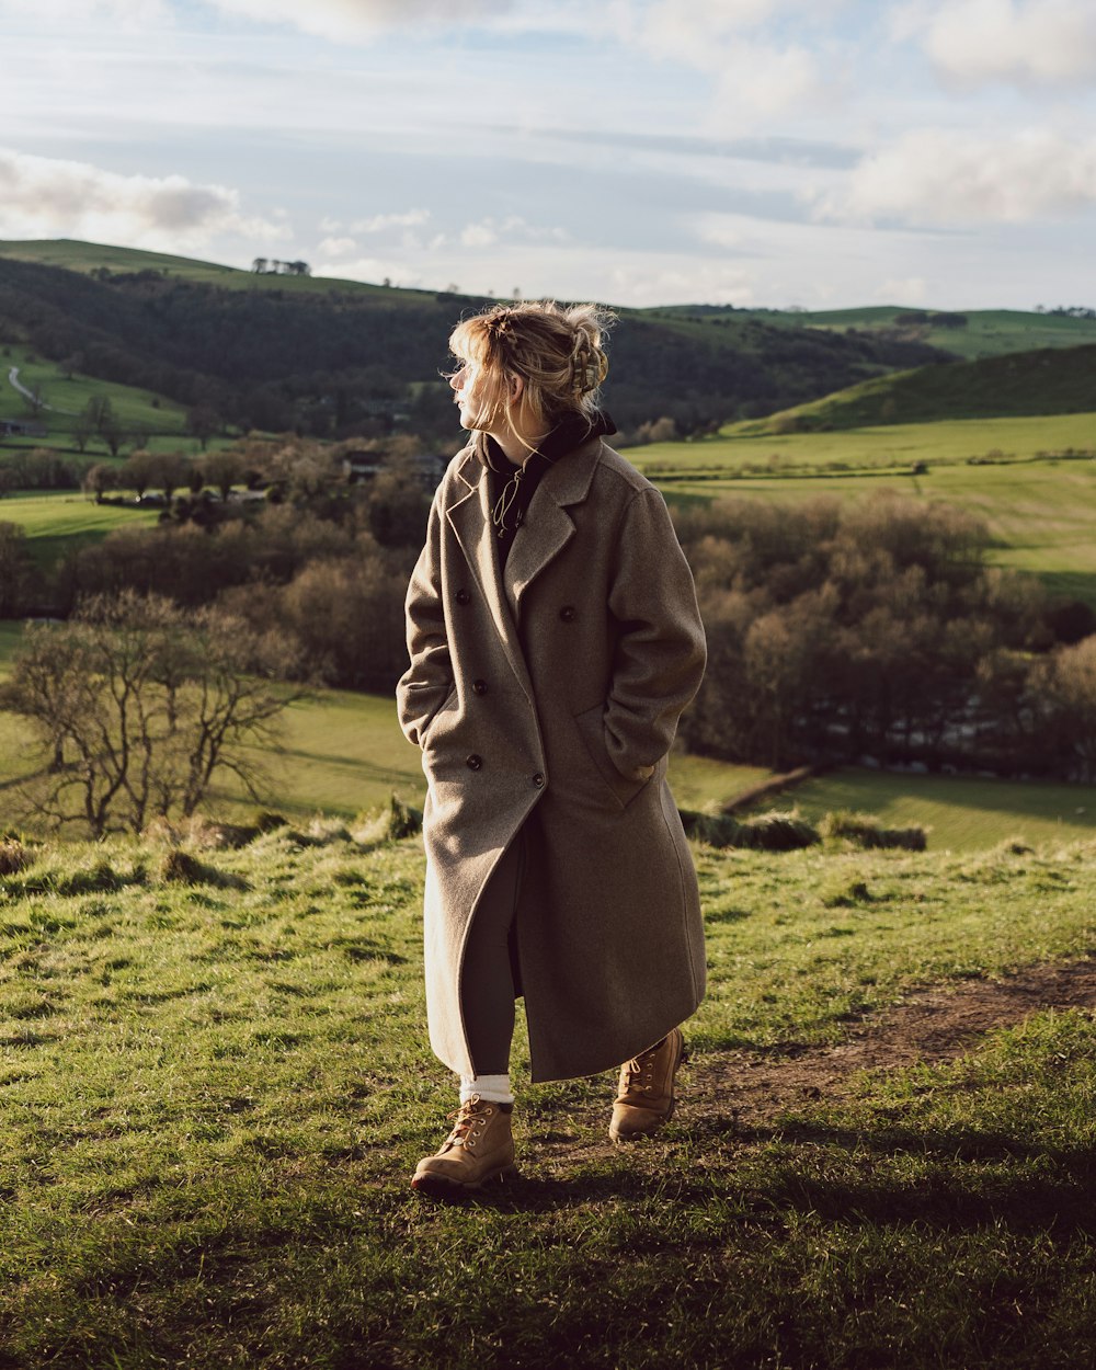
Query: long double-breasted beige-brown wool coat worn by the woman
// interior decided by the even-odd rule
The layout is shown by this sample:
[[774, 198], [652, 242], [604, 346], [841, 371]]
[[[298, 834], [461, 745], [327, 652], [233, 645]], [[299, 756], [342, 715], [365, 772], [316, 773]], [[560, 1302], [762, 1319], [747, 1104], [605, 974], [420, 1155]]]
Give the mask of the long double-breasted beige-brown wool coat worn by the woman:
[[704, 993], [692, 856], [666, 784], [704, 671], [696, 593], [659, 492], [600, 438], [537, 488], [500, 571], [471, 447], [434, 496], [407, 593], [400, 723], [427, 777], [430, 1044], [471, 1074], [460, 969], [525, 826], [516, 922], [534, 1081], [630, 1059]]

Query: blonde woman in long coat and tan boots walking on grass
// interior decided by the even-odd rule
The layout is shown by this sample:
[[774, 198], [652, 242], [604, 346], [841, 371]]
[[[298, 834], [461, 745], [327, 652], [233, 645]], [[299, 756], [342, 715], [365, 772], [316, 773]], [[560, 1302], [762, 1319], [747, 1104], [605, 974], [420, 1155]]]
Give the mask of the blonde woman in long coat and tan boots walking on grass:
[[689, 567], [658, 490], [604, 436], [595, 306], [499, 306], [449, 347], [473, 438], [434, 496], [407, 592], [400, 723], [427, 778], [430, 1044], [456, 1125], [412, 1185], [514, 1173], [510, 1043], [534, 1081], [621, 1060], [615, 1141], [673, 1112], [704, 992], [696, 874], [666, 784], [704, 670]]

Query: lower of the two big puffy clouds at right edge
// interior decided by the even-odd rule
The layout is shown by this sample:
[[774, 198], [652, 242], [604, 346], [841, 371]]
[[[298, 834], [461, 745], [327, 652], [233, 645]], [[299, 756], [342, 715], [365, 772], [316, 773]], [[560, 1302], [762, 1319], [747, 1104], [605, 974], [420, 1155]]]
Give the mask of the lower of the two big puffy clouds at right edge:
[[817, 218], [1018, 223], [1096, 204], [1096, 138], [1029, 130], [985, 138], [921, 129], [867, 158], [817, 201]]

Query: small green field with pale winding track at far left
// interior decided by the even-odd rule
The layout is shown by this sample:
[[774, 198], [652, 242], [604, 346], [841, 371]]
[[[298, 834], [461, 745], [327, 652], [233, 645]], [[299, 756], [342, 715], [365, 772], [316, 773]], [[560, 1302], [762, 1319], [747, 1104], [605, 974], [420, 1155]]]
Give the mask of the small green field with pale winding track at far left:
[[[19, 369], [19, 382], [29, 390], [38, 390], [45, 403], [53, 406], [52, 411], [44, 410], [38, 415], [30, 412], [27, 401], [8, 381], [8, 371], [14, 366]], [[97, 381], [89, 375], [66, 378], [58, 362], [48, 362], [26, 347], [10, 344], [0, 348], [0, 418], [41, 423], [51, 434], [67, 436], [75, 429], [75, 415], [88, 400], [100, 395], [111, 401], [111, 408], [125, 429], [184, 436], [186, 410], [174, 400], [133, 385]], [[49, 445], [48, 438], [38, 438], [38, 445]], [[92, 440], [88, 452], [96, 451], [104, 451], [103, 444]]]

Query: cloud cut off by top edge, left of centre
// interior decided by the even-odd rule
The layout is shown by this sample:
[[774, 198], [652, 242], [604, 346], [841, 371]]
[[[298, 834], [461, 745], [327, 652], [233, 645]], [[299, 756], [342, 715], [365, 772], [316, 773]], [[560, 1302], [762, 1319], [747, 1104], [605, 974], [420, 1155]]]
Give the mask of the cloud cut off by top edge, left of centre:
[[430, 21], [445, 29], [471, 19], [496, 19], [512, 0], [212, 0], [225, 14], [262, 23], [290, 23], [336, 42], [370, 40], [389, 27]]

